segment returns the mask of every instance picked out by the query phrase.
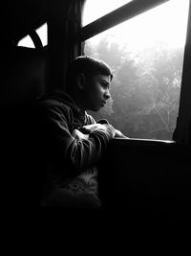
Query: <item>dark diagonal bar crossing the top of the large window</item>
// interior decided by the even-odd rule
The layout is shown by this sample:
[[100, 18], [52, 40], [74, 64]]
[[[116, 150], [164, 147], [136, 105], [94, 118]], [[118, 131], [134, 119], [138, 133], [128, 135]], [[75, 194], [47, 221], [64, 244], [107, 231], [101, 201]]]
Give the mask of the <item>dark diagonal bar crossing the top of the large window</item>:
[[134, 0], [129, 2], [117, 10], [110, 12], [81, 28], [77, 39], [79, 41], [87, 40], [88, 38], [102, 33], [121, 22], [168, 1], [169, 0]]

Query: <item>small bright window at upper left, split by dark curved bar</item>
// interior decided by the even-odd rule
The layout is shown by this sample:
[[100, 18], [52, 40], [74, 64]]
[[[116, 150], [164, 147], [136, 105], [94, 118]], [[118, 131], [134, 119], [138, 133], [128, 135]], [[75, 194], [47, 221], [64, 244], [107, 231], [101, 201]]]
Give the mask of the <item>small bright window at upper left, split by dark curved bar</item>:
[[[42, 45], [47, 45], [47, 23], [43, 24], [41, 27], [36, 29], [37, 35], [40, 37]], [[18, 42], [18, 46], [25, 46], [29, 48], [34, 48], [32, 38], [30, 35], [25, 36]]]

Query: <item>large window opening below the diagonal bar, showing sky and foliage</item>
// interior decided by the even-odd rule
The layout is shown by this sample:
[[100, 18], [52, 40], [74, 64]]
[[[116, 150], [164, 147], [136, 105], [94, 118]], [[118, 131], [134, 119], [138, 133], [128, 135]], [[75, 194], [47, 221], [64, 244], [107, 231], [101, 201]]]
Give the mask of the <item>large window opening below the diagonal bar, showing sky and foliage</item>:
[[114, 72], [112, 99], [91, 112], [96, 119], [108, 119], [129, 137], [172, 140], [188, 6], [189, 0], [171, 0], [85, 42], [85, 54], [105, 60]]

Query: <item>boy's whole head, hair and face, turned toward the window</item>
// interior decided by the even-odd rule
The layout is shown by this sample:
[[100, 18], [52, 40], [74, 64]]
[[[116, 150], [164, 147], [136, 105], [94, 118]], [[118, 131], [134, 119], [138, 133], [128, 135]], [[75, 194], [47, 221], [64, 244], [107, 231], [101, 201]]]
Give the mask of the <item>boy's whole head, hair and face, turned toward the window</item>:
[[111, 68], [102, 60], [75, 58], [67, 73], [66, 91], [84, 110], [97, 111], [110, 98]]

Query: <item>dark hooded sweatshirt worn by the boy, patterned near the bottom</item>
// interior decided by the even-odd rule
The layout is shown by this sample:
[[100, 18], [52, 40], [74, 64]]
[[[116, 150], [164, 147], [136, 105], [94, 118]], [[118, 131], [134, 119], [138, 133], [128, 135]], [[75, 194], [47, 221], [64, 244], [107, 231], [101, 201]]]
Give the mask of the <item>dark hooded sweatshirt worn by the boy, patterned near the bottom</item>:
[[[39, 149], [47, 169], [42, 204], [77, 207], [84, 196], [97, 200], [96, 166], [115, 136], [114, 128], [104, 124], [86, 137], [74, 136], [74, 129], [96, 121], [62, 91], [39, 98], [36, 109]], [[81, 204], [87, 203], [83, 199]]]

